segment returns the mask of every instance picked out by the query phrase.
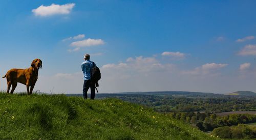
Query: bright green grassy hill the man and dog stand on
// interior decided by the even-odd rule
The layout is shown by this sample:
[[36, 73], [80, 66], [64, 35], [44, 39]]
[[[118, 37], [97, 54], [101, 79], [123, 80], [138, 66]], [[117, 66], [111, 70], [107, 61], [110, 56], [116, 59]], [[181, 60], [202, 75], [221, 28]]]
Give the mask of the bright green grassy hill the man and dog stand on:
[[0, 93], [0, 139], [215, 139], [118, 99]]

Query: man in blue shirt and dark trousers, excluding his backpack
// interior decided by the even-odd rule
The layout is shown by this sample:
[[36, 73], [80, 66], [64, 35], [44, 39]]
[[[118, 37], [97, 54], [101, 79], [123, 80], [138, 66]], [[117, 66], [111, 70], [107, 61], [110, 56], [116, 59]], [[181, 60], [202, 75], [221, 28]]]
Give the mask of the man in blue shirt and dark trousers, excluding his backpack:
[[87, 91], [91, 88], [91, 99], [93, 100], [95, 97], [95, 82], [91, 80], [91, 70], [96, 64], [90, 61], [90, 55], [84, 55], [84, 62], [82, 63], [82, 71], [83, 71], [83, 98], [87, 99]]

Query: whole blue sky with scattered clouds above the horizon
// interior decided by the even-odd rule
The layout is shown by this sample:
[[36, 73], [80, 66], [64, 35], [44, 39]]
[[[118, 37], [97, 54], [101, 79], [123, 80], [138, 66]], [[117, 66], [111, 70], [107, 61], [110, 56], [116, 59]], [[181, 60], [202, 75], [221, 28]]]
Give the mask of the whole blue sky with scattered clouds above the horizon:
[[255, 4], [3, 1], [0, 73], [40, 58], [35, 90], [81, 93], [80, 64], [89, 53], [101, 68], [101, 93], [256, 92]]

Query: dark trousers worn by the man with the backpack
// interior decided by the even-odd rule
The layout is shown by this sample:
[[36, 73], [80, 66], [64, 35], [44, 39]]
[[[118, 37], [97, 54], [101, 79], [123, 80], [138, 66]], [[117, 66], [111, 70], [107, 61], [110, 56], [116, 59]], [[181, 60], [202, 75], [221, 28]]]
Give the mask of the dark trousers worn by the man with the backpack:
[[87, 91], [91, 88], [91, 99], [94, 99], [95, 97], [95, 82], [92, 82], [91, 80], [84, 80], [83, 82], [83, 90], [82, 95], [84, 99], [87, 99]]

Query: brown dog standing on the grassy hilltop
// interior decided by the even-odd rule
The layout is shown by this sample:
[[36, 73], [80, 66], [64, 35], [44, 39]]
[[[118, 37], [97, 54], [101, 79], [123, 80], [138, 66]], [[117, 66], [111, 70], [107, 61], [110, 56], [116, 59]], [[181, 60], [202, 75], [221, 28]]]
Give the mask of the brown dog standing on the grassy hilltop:
[[35, 82], [37, 80], [39, 68], [42, 68], [42, 61], [40, 59], [35, 59], [32, 61], [31, 67], [28, 69], [10, 69], [3, 77], [6, 77], [7, 80], [7, 93], [9, 93], [12, 86], [12, 94], [17, 86], [17, 83], [20, 82], [27, 86], [28, 95], [32, 94]]

